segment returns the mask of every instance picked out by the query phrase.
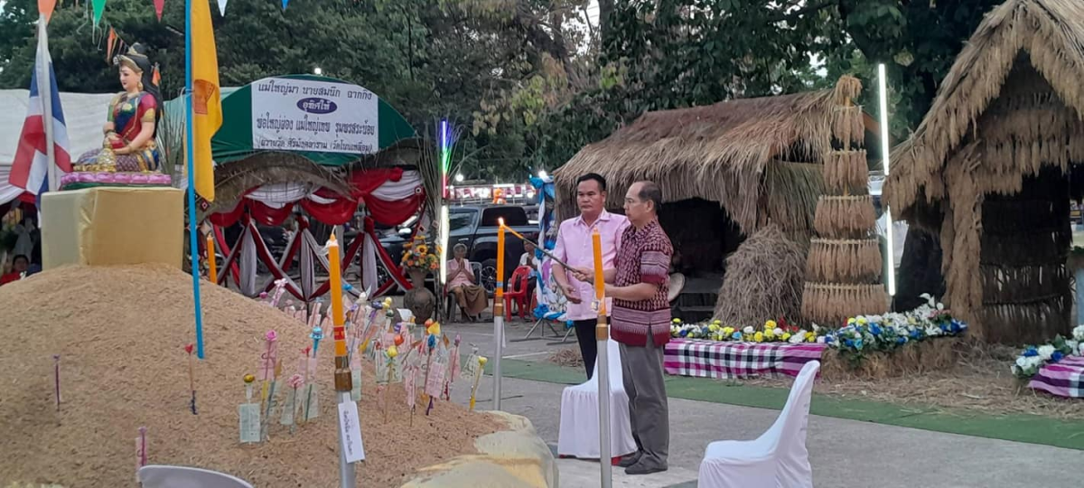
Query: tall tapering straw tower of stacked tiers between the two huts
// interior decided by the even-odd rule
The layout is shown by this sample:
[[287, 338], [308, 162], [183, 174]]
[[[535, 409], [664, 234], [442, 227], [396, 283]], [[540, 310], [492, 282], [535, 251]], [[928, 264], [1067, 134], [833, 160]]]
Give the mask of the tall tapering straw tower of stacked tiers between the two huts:
[[[839, 105], [831, 121], [834, 150], [824, 158], [826, 195], [817, 201], [802, 294], [802, 316], [820, 324], [839, 324], [849, 317], [881, 313], [888, 295], [879, 284], [881, 253], [874, 233], [876, 216], [868, 196], [862, 108], [852, 100], [862, 84], [844, 76], [833, 100]], [[721, 295], [720, 295], [721, 296]]]

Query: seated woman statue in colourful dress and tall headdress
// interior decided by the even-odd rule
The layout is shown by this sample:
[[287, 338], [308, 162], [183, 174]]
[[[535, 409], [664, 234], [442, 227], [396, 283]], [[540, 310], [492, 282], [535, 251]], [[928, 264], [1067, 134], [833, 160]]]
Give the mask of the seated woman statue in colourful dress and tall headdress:
[[101, 150], [79, 157], [76, 171], [158, 172], [162, 154], [155, 143], [162, 118], [162, 94], [153, 82], [154, 66], [146, 48], [133, 44], [114, 57], [120, 67], [118, 93], [109, 103], [108, 121], [102, 128], [105, 140]]

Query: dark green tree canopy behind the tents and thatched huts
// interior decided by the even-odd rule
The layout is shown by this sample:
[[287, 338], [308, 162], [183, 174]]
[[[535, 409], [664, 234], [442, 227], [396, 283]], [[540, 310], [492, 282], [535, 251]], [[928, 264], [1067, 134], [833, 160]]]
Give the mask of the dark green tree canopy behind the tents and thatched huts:
[[[199, 0], [196, 0], [199, 1]], [[312, 73], [364, 86], [418, 130], [436, 117], [466, 129], [468, 178], [522, 179], [646, 111], [872, 80], [886, 63], [892, 136], [929, 108], [964, 41], [998, 0], [231, 0], [211, 11], [223, 86]], [[50, 22], [60, 88], [118, 89], [108, 27], [152, 48], [167, 97], [183, 87], [184, 2], [90, 2]], [[0, 12], [0, 87], [24, 88], [37, 2]], [[867, 86], [873, 84], [867, 82]], [[870, 99], [873, 100], [873, 99]], [[869, 104], [876, 106], [876, 104]]]

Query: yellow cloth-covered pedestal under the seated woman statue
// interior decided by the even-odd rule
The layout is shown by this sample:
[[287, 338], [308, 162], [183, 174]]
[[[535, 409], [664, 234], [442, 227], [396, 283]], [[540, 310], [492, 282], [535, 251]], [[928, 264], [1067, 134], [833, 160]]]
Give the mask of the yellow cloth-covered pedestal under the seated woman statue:
[[41, 260], [181, 267], [184, 192], [175, 188], [89, 188], [41, 196]]

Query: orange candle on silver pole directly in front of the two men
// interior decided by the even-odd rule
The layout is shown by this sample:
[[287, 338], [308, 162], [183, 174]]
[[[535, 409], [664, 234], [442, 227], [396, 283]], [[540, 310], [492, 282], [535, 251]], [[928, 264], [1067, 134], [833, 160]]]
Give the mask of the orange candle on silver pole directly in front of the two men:
[[595, 361], [598, 370], [598, 465], [602, 487], [609, 488], [612, 485], [609, 421], [609, 322], [606, 320], [603, 241], [597, 228], [591, 232], [591, 248], [595, 265], [595, 306], [598, 308], [598, 322], [595, 325], [595, 341], [598, 342], [598, 358]]

